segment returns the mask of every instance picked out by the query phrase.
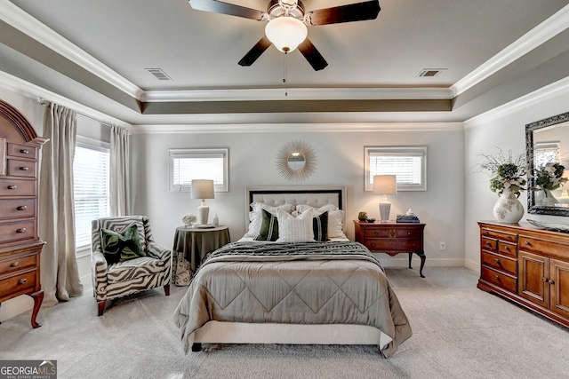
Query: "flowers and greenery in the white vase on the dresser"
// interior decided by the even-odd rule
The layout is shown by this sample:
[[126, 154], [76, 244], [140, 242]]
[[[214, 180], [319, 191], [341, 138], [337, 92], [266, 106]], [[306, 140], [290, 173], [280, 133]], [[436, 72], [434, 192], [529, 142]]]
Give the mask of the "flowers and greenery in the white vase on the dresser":
[[485, 162], [479, 164], [478, 171], [486, 171], [490, 175], [490, 190], [497, 192], [498, 195], [504, 190], [510, 190], [517, 196], [521, 191], [525, 191], [527, 175], [527, 161], [525, 152], [519, 154], [516, 158], [509, 151], [508, 157], [500, 151], [497, 154], [481, 154], [485, 158]]

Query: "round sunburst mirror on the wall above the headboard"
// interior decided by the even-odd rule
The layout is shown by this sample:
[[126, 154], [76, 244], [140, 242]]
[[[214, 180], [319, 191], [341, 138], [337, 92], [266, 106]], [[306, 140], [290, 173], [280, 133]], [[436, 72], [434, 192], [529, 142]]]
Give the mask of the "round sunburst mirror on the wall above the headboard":
[[276, 167], [286, 180], [309, 178], [316, 168], [317, 156], [309, 144], [293, 141], [281, 147], [276, 154]]

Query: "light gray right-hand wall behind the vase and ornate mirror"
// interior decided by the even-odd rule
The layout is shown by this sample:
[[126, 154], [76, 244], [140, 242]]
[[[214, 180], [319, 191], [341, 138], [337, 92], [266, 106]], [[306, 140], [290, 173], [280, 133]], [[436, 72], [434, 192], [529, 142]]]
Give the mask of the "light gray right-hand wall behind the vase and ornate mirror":
[[[541, 95], [544, 95], [543, 93]], [[493, 154], [509, 150], [517, 155], [525, 151], [525, 125], [544, 118], [569, 111], [569, 92], [557, 96], [542, 96], [543, 101], [521, 106], [508, 114], [491, 114], [477, 117], [465, 124], [465, 265], [480, 271], [480, 241], [478, 220], [493, 220], [493, 205], [497, 195], [490, 191], [489, 177], [485, 174], [469, 173], [483, 161], [479, 154]], [[527, 213], [527, 193], [522, 193], [520, 201], [524, 204], [526, 218], [544, 222], [568, 224], [566, 217], [531, 215]]]

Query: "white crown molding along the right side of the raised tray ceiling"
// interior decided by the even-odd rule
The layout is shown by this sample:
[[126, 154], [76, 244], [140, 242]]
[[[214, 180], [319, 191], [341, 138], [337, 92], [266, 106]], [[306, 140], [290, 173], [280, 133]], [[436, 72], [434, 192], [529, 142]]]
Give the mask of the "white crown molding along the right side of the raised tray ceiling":
[[469, 75], [454, 83], [450, 89], [453, 91], [454, 96], [468, 91], [477, 83], [484, 81], [515, 60], [523, 57], [529, 51], [557, 36], [566, 28], [569, 28], [569, 5], [565, 5], [564, 8], [549, 17], [549, 19], [544, 20], [540, 25], [525, 33], [524, 36], [519, 37], [517, 41], [494, 55], [492, 59], [488, 59], [469, 73]]

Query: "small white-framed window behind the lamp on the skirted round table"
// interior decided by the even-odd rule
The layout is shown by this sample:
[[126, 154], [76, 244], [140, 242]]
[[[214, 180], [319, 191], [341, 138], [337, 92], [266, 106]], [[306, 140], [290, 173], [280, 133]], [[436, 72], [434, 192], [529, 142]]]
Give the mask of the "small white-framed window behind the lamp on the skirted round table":
[[228, 192], [228, 149], [171, 149], [170, 191], [190, 191], [192, 179], [211, 179], [215, 192]]

